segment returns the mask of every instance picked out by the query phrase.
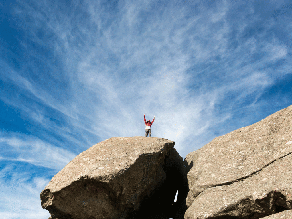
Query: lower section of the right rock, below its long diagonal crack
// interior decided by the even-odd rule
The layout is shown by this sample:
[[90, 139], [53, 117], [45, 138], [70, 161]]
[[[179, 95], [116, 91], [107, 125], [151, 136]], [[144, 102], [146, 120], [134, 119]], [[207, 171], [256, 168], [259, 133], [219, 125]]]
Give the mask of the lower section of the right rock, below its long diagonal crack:
[[278, 209], [292, 209], [291, 161], [292, 154], [243, 181], [206, 189], [187, 209], [185, 218], [220, 215], [261, 218], [276, 213]]

